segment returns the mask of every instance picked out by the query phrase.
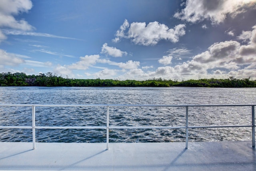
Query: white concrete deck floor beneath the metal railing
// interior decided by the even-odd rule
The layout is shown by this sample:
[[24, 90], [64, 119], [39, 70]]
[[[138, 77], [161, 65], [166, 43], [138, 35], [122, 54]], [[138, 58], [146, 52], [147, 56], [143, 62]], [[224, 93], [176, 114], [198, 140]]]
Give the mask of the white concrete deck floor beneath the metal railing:
[[0, 143], [0, 170], [256, 170], [251, 141]]

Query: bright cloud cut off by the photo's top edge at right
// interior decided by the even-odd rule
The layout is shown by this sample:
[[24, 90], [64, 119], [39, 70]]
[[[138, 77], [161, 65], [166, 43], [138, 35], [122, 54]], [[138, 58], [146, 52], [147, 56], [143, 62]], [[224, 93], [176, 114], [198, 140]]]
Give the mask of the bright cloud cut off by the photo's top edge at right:
[[248, 6], [256, 6], [255, 0], [187, 0], [186, 7], [174, 17], [196, 23], [211, 20], [212, 24], [223, 22], [228, 14], [235, 17], [246, 12]]

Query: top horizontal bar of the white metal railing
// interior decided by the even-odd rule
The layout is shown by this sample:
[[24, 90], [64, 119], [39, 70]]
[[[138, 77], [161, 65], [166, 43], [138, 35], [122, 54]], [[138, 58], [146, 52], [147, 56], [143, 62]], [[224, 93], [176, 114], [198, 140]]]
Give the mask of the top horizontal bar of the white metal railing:
[[0, 104], [0, 106], [40, 106], [40, 107], [232, 107], [256, 106], [256, 104], [204, 104], [204, 105], [150, 105], [150, 104], [92, 104], [92, 105], [58, 105], [58, 104]]

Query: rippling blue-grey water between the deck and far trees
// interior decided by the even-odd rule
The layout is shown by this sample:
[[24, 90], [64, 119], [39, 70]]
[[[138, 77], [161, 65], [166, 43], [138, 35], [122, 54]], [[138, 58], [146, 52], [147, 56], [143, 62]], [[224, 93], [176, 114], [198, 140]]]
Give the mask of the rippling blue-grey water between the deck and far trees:
[[[0, 103], [255, 104], [256, 88], [0, 87]], [[251, 107], [189, 107], [189, 125], [250, 125]], [[184, 126], [184, 107], [110, 107], [110, 126]], [[31, 126], [31, 107], [0, 107], [0, 125]], [[106, 126], [106, 107], [36, 107], [37, 126]], [[110, 142], [184, 142], [185, 129], [111, 129]], [[189, 141], [251, 140], [251, 127], [189, 129]], [[32, 141], [0, 129], [0, 141]], [[105, 129], [36, 129], [36, 142], [106, 142]]]

